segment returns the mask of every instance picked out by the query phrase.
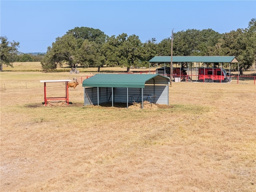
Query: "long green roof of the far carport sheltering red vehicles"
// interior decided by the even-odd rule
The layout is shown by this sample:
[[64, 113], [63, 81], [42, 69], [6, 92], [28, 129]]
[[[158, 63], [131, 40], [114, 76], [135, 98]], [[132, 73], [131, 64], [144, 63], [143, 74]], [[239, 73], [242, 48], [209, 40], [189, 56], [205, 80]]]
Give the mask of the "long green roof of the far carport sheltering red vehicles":
[[[149, 62], [171, 62], [171, 56], [154, 56]], [[172, 62], [238, 63], [235, 56], [172, 56]]]

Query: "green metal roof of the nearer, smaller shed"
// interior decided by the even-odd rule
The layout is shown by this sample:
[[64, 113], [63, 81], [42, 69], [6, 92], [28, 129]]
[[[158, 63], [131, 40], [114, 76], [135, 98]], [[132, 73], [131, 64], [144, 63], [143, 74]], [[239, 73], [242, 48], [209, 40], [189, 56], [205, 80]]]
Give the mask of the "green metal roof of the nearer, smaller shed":
[[159, 74], [96, 74], [83, 81], [83, 87], [124, 87], [145, 88], [145, 83], [152, 78], [168, 77]]

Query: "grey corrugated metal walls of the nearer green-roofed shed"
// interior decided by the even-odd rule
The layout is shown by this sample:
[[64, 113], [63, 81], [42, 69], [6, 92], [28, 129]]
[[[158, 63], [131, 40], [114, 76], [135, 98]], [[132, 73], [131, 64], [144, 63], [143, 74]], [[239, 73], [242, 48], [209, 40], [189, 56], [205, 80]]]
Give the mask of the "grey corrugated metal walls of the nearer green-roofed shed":
[[[169, 86], [166, 78], [156, 77], [146, 82], [143, 89], [143, 95], [156, 95], [157, 104], [169, 104]], [[155, 86], [154, 86], [155, 84]], [[99, 88], [99, 104], [112, 102], [112, 88]], [[126, 103], [127, 101], [127, 88], [113, 88], [114, 102]], [[141, 88], [128, 88], [128, 102], [141, 102]], [[88, 98], [89, 97], [89, 98]], [[138, 99], [138, 100], [137, 100]], [[144, 99], [146, 100], [146, 99]], [[85, 88], [84, 105], [98, 104], [97, 87]]]

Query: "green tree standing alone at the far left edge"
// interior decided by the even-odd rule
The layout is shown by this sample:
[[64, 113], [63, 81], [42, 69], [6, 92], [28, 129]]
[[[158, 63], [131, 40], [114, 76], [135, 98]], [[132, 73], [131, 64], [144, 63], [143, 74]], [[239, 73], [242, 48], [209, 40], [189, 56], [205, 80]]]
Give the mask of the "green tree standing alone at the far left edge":
[[3, 65], [13, 67], [13, 62], [15, 62], [19, 51], [19, 42], [9, 42], [6, 36], [0, 37], [0, 71], [3, 71]]

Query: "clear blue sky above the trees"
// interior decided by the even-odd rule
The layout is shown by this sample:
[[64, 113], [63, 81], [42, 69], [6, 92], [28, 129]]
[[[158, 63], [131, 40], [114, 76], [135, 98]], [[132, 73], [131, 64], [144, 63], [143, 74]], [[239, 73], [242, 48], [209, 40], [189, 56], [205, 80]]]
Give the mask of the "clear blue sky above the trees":
[[247, 28], [252, 18], [256, 0], [0, 0], [0, 35], [20, 42], [23, 53], [46, 52], [57, 37], [75, 27], [161, 42], [172, 29], [225, 33]]

